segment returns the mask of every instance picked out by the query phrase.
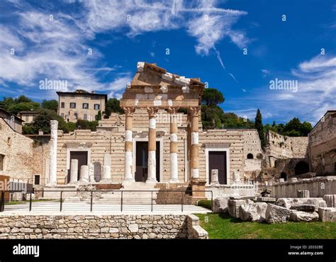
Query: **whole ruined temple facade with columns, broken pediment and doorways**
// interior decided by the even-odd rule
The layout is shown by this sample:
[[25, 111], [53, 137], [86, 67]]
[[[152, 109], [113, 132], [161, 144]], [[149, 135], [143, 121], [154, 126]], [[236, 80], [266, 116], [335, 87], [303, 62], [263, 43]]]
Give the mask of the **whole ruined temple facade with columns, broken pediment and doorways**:
[[139, 62], [121, 99], [125, 114], [99, 121], [96, 131], [59, 130], [50, 141], [56, 153], [50, 154], [46, 178], [52, 185], [81, 180], [230, 185], [251, 178], [261, 170], [257, 131], [203, 131], [204, 88], [198, 78]]

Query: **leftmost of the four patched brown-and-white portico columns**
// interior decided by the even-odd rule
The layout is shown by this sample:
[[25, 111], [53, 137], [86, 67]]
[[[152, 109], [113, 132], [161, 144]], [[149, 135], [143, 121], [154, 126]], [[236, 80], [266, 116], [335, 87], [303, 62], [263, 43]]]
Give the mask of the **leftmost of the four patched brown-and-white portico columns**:
[[125, 107], [125, 181], [135, 181], [132, 173], [133, 165], [133, 113], [134, 107]]

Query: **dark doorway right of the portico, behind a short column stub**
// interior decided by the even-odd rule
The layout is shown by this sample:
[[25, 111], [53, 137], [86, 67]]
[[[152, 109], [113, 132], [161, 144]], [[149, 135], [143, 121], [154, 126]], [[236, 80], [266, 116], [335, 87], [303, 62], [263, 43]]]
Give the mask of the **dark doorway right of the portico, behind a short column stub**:
[[211, 182], [211, 170], [218, 169], [218, 182], [226, 185], [226, 152], [209, 151], [209, 183]]

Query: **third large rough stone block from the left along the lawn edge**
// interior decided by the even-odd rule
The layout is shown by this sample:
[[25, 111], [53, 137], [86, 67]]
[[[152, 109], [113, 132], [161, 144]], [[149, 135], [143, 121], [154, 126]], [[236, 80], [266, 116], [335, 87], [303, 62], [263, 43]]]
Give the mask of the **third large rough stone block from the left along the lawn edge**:
[[239, 217], [242, 221], [263, 222], [266, 219], [267, 203], [242, 204]]

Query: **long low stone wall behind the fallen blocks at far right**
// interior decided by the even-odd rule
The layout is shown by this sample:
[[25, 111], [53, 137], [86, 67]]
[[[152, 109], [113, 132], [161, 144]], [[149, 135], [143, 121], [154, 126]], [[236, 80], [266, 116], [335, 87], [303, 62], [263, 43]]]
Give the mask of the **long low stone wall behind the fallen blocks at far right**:
[[272, 185], [271, 194], [276, 197], [297, 197], [297, 190], [309, 190], [310, 197], [323, 197], [336, 194], [335, 177], [316, 177], [297, 182], [279, 182]]

